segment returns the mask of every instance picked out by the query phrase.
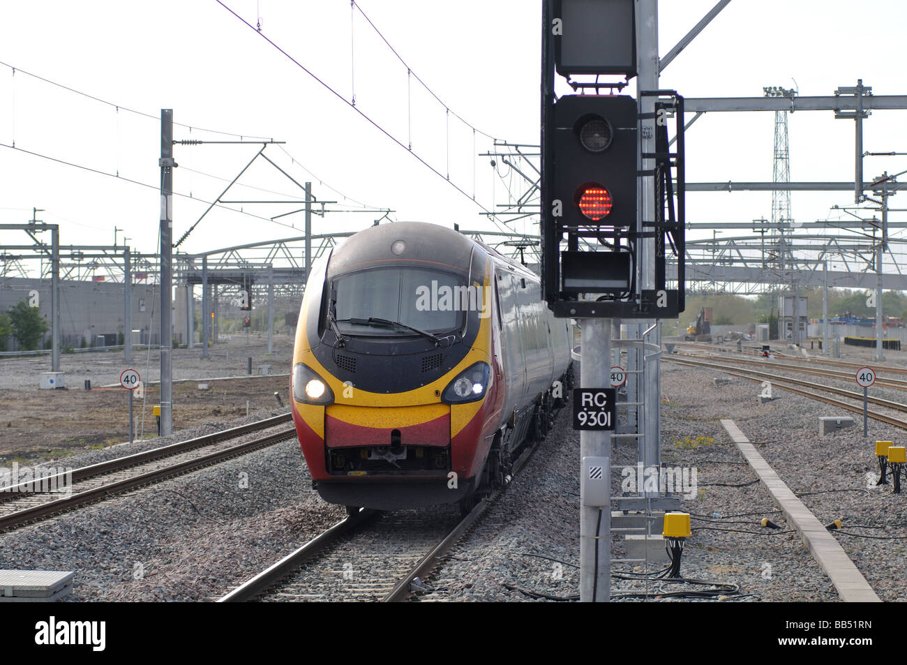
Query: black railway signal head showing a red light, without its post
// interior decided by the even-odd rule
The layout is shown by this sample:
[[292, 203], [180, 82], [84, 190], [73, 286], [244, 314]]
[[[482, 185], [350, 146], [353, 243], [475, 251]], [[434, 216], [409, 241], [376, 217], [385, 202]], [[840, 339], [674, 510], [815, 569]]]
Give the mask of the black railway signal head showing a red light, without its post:
[[[640, 152], [639, 123], [651, 122], [652, 114], [639, 113], [639, 100], [615, 94], [626, 81], [600, 80], [637, 73], [634, 6], [543, 3], [541, 276], [556, 317], [674, 318], [683, 311], [683, 98], [639, 92], [640, 100], [655, 98], [656, 120], [654, 137], [648, 135], [655, 152]], [[574, 94], [555, 93], [557, 75]], [[673, 147], [668, 116], [676, 124]], [[654, 168], [640, 171], [651, 161]], [[642, 190], [651, 219], [639, 214], [640, 176], [654, 180]], [[667, 288], [668, 252], [677, 257], [678, 288]]]

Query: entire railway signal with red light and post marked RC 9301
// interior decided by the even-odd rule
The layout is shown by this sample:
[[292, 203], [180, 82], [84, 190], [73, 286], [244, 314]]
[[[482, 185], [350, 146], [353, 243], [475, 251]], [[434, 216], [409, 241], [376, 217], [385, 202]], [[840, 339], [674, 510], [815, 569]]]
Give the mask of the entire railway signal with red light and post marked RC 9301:
[[[607, 601], [610, 447], [617, 424], [611, 319], [636, 319], [639, 326], [629, 328], [654, 331], [649, 340], [639, 335], [613, 344], [642, 351], [637, 368], [643, 374], [633, 377], [645, 408], [638, 431], [619, 436], [636, 437], [639, 461], [658, 465], [655, 324], [684, 308], [683, 98], [658, 90], [656, 0], [542, 5], [541, 281], [554, 315], [576, 318], [582, 329], [573, 400], [581, 455], [580, 600]], [[620, 94], [638, 74], [638, 97]], [[669, 117], [676, 124], [675, 152]], [[673, 289], [667, 288], [668, 252], [678, 262]], [[679, 507], [656, 492], [618, 500], [618, 507], [649, 512], [674, 503]]]

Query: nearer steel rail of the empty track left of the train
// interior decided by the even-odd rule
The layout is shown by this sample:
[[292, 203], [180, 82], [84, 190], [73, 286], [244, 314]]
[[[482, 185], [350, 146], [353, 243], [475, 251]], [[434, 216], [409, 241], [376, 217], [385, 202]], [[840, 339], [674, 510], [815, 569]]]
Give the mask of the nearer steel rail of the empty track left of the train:
[[129, 490], [141, 487], [141, 485], [157, 483], [161, 480], [171, 478], [180, 474], [187, 474], [191, 471], [197, 471], [204, 466], [210, 466], [222, 462], [230, 457], [245, 455], [259, 448], [274, 445], [288, 438], [296, 436], [296, 429], [287, 429], [274, 434], [263, 436], [254, 441], [247, 441], [244, 444], [238, 444], [219, 450], [209, 455], [202, 455], [194, 459], [185, 460], [176, 465], [163, 466], [160, 469], [154, 469], [144, 474], [134, 475], [132, 478], [125, 478], [113, 483], [102, 484], [90, 490], [85, 490], [78, 494], [64, 496], [56, 501], [50, 501], [45, 504], [35, 505], [30, 508], [9, 513], [0, 516], [0, 532], [21, 526], [24, 523], [34, 522], [55, 513], [73, 510], [85, 504], [93, 504], [96, 501], [107, 498], [112, 494], [122, 494]]

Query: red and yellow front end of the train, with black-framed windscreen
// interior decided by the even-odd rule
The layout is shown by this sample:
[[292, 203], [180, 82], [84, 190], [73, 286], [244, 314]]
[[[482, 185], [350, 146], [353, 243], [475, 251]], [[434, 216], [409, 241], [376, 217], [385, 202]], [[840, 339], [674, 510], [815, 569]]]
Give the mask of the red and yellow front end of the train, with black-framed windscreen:
[[[342, 266], [336, 277], [327, 269], [321, 288], [309, 282], [293, 416], [309, 473], [330, 503], [458, 501], [475, 489], [500, 425], [490, 261], [464, 271], [413, 254]], [[445, 307], [451, 292], [463, 308]], [[413, 307], [420, 298], [423, 307]]]

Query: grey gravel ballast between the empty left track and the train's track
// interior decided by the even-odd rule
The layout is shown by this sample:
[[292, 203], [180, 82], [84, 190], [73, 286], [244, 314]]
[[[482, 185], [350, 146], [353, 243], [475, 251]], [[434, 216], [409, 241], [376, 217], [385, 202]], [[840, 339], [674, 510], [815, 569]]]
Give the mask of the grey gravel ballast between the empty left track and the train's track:
[[[150, 443], [94, 451], [78, 462]], [[2, 534], [0, 568], [75, 571], [70, 601], [214, 600], [343, 514], [311, 489], [290, 439]]]

